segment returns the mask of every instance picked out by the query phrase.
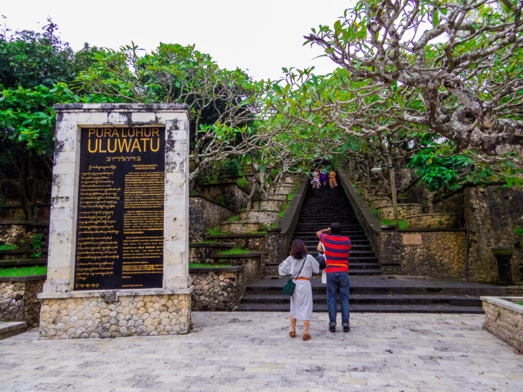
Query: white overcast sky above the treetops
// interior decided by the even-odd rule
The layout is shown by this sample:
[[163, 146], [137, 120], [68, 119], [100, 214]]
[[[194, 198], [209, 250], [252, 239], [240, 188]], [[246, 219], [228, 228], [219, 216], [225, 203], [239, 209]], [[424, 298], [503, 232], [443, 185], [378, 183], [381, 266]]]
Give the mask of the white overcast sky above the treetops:
[[338, 0], [19, 0], [4, 1], [0, 14], [12, 30], [40, 29], [50, 16], [74, 50], [84, 42], [117, 49], [134, 41], [151, 51], [159, 42], [196, 44], [221, 67], [240, 67], [257, 78], [277, 79], [281, 67], [314, 65], [315, 73], [335, 64], [319, 47], [302, 46], [303, 35], [333, 25], [353, 1]]

